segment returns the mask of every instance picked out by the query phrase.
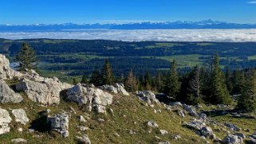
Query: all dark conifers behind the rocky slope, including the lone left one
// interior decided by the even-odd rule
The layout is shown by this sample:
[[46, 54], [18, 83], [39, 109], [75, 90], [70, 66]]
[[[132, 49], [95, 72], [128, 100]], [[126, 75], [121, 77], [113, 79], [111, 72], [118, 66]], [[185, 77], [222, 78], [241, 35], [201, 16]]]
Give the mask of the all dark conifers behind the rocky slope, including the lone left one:
[[[37, 58], [30, 45], [23, 44], [17, 59], [19, 70], [37, 69]], [[77, 81], [74, 80], [74, 83]], [[184, 103], [212, 103], [231, 104], [231, 95], [237, 95], [237, 108], [246, 111], [256, 111], [256, 70], [237, 69], [233, 72], [226, 67], [225, 72], [219, 64], [219, 54], [216, 53], [203, 66], [195, 66], [190, 72], [179, 73], [175, 60], [167, 74], [157, 72], [151, 76], [146, 72], [144, 76], [137, 77], [131, 69], [127, 76], [116, 77], [108, 59], [100, 71], [94, 71], [89, 76], [83, 76], [82, 84], [124, 83], [130, 91], [148, 90], [164, 93], [168, 99], [175, 99]]]

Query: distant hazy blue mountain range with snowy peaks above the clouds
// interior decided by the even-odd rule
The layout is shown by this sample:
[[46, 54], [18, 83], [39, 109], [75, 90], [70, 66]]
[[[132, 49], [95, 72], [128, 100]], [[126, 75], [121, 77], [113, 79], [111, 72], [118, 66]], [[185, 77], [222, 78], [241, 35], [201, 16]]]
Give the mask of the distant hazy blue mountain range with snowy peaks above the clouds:
[[255, 24], [238, 24], [225, 21], [166, 21], [166, 22], [128, 22], [124, 24], [33, 24], [0, 25], [0, 32], [65, 31], [76, 29], [256, 29]]

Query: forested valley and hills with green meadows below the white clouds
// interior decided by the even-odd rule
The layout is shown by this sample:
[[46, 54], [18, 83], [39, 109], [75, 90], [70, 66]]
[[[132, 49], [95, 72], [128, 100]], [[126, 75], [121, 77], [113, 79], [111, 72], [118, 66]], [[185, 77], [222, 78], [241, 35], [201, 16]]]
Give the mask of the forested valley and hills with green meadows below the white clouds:
[[156, 74], [169, 68], [174, 59], [179, 69], [186, 71], [197, 64], [204, 64], [216, 52], [223, 67], [256, 67], [256, 42], [0, 39], [0, 53], [14, 58], [23, 42], [36, 51], [41, 70], [64, 71], [69, 75], [90, 74], [99, 70], [104, 59], [109, 59], [116, 75], [127, 74], [130, 69], [136, 69], [137, 75], [145, 72]]

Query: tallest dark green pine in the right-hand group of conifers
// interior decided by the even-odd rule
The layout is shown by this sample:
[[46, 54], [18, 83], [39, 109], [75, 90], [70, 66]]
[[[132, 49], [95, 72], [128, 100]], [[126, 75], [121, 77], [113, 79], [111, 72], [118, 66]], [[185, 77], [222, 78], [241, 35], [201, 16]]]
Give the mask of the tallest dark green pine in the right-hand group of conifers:
[[229, 104], [230, 102], [231, 98], [226, 89], [225, 77], [219, 66], [219, 55], [216, 53], [211, 74], [211, 103]]

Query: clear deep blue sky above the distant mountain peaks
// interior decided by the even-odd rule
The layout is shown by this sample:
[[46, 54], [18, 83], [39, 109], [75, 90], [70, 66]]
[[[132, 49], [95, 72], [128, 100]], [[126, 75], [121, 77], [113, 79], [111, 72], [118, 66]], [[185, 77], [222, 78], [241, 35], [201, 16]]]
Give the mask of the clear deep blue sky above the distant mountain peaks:
[[256, 23], [256, 0], [1, 0], [0, 24], [110, 20]]

